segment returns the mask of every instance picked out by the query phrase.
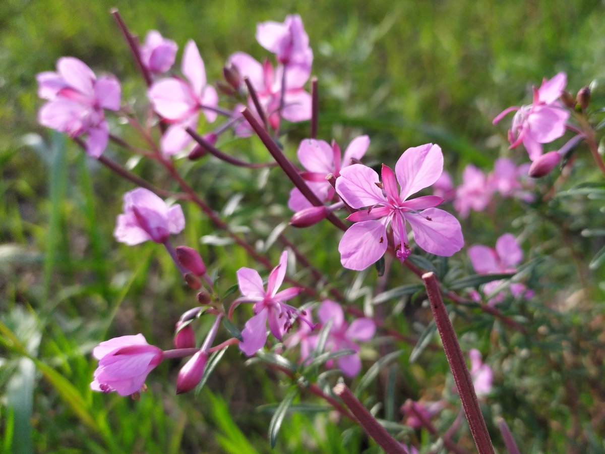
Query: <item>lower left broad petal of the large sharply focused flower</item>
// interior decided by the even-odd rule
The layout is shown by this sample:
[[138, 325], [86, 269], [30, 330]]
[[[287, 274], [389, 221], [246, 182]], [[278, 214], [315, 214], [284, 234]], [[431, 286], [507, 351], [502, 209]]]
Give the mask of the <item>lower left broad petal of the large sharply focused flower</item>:
[[356, 271], [373, 265], [386, 250], [387, 229], [381, 220], [353, 224], [338, 245], [342, 266]]

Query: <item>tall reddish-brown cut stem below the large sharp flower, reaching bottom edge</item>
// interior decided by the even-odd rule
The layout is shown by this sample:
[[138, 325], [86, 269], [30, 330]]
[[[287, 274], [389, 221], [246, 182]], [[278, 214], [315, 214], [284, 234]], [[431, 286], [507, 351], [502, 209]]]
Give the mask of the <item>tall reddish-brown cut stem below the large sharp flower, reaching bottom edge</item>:
[[441, 336], [445, 356], [448, 358], [450, 369], [454, 375], [460, 400], [462, 400], [462, 408], [479, 454], [494, 454], [494, 447], [489, 438], [488, 428], [475, 393], [473, 378], [471, 378], [471, 373], [466, 367], [466, 361], [460, 349], [456, 332], [443, 304], [439, 282], [432, 272], [422, 275], [422, 280], [427, 288], [428, 300], [431, 303], [431, 311], [433, 311], [433, 317]]

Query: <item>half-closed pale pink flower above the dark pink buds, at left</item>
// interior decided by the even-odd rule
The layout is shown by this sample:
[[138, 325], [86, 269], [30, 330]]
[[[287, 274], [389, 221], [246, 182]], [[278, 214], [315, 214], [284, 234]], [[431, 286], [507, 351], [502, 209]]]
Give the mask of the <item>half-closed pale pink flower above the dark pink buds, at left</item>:
[[180, 205], [166, 205], [149, 189], [137, 188], [124, 194], [124, 214], [117, 217], [114, 237], [129, 246], [147, 240], [165, 243], [171, 234], [185, 228]]

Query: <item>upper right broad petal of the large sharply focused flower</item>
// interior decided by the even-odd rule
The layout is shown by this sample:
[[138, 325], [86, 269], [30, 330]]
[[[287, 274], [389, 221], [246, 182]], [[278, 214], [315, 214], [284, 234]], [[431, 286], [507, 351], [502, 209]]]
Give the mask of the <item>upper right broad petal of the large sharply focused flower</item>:
[[401, 200], [405, 200], [437, 181], [443, 171], [443, 154], [439, 145], [408, 148], [395, 165], [397, 180], [401, 186]]

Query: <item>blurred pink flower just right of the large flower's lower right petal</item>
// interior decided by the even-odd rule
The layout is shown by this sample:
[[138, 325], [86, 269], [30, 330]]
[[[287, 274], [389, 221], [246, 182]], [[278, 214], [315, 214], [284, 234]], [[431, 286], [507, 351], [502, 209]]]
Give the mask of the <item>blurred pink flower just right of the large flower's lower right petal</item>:
[[[478, 274], [514, 273], [517, 271], [515, 266], [523, 260], [523, 251], [514, 235], [505, 233], [495, 243], [495, 249], [483, 245], [474, 245], [468, 249], [468, 256]], [[483, 293], [485, 295], [491, 294], [501, 282], [491, 281], [486, 283], [483, 286]], [[518, 297], [523, 292], [525, 292], [526, 298], [531, 298], [534, 294], [531, 290], [526, 291], [526, 286], [522, 283], [514, 283], [510, 286], [510, 289], [514, 297]], [[504, 297], [505, 294], [500, 292], [500, 294], [489, 300], [488, 304], [494, 306], [497, 303], [501, 303]]]

